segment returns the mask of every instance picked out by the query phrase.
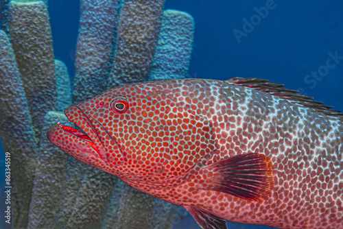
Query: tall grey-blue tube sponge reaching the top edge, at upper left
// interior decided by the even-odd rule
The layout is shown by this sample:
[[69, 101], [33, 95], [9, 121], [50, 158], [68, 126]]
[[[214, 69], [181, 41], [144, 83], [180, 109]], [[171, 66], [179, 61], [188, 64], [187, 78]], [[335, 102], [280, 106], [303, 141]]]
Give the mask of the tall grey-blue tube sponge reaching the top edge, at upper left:
[[10, 36], [37, 138], [44, 116], [56, 110], [54, 49], [43, 1], [10, 1]]

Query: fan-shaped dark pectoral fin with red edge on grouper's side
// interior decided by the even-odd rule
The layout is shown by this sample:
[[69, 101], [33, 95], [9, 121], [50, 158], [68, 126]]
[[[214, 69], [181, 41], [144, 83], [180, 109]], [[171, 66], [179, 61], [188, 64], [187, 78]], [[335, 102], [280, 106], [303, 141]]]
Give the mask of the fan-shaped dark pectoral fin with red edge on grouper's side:
[[204, 190], [228, 193], [244, 200], [268, 199], [274, 184], [272, 162], [264, 154], [240, 154], [204, 167]]

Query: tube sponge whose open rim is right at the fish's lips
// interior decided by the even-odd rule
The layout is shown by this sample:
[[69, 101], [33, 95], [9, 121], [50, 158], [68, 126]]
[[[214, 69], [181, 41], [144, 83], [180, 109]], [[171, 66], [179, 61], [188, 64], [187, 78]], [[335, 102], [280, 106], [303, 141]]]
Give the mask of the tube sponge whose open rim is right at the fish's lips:
[[67, 155], [54, 147], [45, 133], [50, 125], [61, 122], [68, 123], [62, 112], [47, 112], [42, 130], [42, 140], [38, 156], [32, 201], [29, 206], [29, 228], [53, 228], [62, 200], [63, 181], [67, 172]]

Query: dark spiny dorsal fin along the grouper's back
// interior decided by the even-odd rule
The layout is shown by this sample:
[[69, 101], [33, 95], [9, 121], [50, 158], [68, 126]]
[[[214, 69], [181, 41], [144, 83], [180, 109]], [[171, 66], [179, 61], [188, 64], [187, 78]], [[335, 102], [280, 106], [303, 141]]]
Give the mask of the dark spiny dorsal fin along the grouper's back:
[[283, 88], [283, 84], [271, 83], [268, 80], [258, 79], [258, 78], [231, 78], [226, 80], [227, 82], [239, 84], [242, 86], [247, 86], [249, 88], [254, 88], [255, 90], [264, 91], [270, 95], [276, 95], [283, 99], [289, 99], [294, 101], [296, 104], [301, 104], [307, 108], [313, 108], [316, 112], [322, 115], [328, 115], [332, 117], [337, 117], [340, 121], [343, 121], [343, 113], [338, 110], [331, 110], [333, 106], [326, 106], [320, 101], [313, 100], [313, 97], [308, 97], [305, 95], [296, 94], [299, 91], [289, 90]]

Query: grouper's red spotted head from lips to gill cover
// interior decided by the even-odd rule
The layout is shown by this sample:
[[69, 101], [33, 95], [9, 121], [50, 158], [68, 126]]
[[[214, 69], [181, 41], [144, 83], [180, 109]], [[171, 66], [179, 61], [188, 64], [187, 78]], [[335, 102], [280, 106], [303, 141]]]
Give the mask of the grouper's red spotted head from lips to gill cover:
[[56, 123], [47, 136], [119, 178], [180, 183], [211, 158], [215, 140], [211, 123], [193, 115], [172, 88], [156, 82], [113, 88], [64, 111], [81, 130]]

